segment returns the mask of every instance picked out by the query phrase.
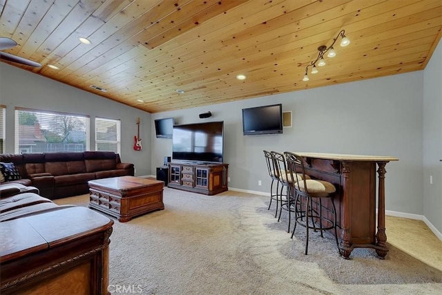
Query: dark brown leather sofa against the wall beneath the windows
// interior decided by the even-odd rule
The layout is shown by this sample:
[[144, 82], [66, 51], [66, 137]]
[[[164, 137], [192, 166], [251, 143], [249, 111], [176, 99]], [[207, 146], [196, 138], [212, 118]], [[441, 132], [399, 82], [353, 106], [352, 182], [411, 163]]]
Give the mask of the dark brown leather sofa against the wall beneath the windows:
[[14, 163], [21, 176], [0, 186], [37, 187], [41, 196], [51, 200], [88, 193], [89, 180], [135, 173], [133, 164], [122, 163], [119, 154], [108, 151], [1, 154], [0, 162]]

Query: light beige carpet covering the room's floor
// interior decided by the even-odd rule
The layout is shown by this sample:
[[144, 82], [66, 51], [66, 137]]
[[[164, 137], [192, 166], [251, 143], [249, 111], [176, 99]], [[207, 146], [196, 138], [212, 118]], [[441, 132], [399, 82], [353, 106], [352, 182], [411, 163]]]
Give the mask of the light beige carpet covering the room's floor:
[[[88, 195], [56, 200], [87, 206]], [[236, 191], [204, 196], [164, 189], [162, 211], [115, 220], [112, 285], [141, 294], [441, 294], [442, 242], [416, 220], [387, 216], [385, 260], [355, 249], [345, 260], [332, 237], [287, 234], [269, 200]], [[139, 288], [140, 287], [140, 288]]]

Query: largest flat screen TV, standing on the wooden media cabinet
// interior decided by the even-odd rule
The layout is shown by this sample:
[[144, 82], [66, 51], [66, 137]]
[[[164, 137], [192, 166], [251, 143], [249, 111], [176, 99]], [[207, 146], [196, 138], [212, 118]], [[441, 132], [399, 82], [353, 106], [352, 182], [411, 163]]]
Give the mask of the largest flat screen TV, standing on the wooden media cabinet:
[[224, 122], [175, 125], [172, 143], [173, 160], [222, 162]]

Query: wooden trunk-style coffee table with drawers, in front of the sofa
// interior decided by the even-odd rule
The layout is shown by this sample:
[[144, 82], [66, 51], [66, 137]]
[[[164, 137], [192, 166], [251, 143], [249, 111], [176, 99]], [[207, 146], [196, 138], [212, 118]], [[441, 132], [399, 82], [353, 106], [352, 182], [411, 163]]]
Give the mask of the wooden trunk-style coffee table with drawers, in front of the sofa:
[[164, 182], [134, 176], [90, 180], [89, 208], [126, 222], [135, 216], [164, 209]]

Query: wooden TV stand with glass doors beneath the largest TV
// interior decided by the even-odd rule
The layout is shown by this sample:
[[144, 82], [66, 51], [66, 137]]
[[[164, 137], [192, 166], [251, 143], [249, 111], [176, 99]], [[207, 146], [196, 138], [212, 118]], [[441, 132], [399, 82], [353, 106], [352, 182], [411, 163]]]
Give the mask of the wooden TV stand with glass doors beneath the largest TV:
[[229, 164], [225, 163], [171, 163], [167, 186], [209, 196], [215, 195], [228, 190], [228, 169]]

